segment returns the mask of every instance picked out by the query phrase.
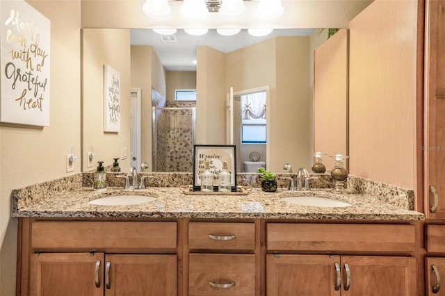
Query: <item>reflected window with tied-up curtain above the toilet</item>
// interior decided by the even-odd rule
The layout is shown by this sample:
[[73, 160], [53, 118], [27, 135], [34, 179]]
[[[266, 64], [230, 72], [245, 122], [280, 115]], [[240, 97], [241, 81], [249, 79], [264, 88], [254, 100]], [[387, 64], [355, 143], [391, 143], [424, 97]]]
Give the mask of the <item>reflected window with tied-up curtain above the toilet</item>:
[[266, 92], [241, 96], [241, 142], [266, 143]]

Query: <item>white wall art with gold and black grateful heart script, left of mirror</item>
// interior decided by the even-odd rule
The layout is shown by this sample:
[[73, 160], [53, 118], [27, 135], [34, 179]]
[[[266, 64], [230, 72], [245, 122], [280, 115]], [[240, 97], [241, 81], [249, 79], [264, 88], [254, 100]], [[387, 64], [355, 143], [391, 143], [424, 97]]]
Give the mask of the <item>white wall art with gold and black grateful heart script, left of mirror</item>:
[[24, 0], [0, 1], [0, 121], [49, 126], [51, 22]]

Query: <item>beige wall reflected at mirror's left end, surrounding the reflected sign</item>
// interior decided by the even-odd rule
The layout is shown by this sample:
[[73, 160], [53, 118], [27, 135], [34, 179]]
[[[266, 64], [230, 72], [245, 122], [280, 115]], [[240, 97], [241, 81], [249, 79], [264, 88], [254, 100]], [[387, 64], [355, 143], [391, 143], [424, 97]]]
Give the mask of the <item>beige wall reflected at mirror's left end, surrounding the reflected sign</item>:
[[[120, 159], [122, 170], [130, 164], [130, 31], [129, 29], [85, 28], [83, 44], [82, 139], [84, 171], [95, 170], [97, 161], [112, 165], [127, 148], [127, 159]], [[120, 44], [120, 46], [115, 46]], [[126, 45], [127, 44], [127, 45]], [[104, 65], [120, 73], [120, 132], [104, 132]], [[87, 167], [88, 149], [96, 158]]]

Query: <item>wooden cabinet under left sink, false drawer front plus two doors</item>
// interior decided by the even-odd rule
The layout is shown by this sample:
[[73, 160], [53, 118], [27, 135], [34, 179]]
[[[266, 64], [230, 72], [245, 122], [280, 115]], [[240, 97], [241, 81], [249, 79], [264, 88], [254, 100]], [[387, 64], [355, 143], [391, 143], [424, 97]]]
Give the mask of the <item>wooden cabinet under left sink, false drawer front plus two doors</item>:
[[17, 295], [178, 294], [177, 222], [25, 221]]

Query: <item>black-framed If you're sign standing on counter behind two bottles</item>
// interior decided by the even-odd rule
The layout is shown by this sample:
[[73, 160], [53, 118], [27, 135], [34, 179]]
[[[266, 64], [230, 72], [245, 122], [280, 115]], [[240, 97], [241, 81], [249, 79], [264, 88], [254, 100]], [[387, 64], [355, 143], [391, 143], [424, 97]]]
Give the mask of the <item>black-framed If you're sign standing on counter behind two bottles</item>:
[[232, 192], [236, 192], [236, 146], [235, 145], [194, 145], [193, 151], [193, 191], [201, 190], [201, 174], [204, 163], [209, 161], [213, 173], [214, 191], [218, 191], [218, 174], [227, 162], [227, 171], [232, 174]]

